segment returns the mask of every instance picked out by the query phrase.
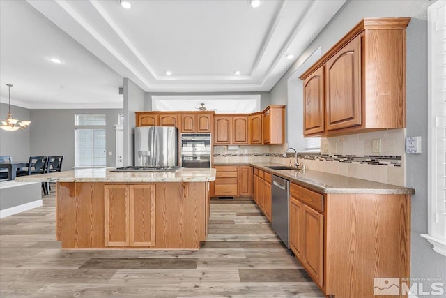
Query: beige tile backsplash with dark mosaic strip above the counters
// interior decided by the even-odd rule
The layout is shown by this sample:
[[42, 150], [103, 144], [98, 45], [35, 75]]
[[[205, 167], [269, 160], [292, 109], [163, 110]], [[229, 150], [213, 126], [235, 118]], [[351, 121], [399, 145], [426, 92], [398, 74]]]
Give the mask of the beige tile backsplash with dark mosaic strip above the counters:
[[[393, 129], [321, 139], [321, 154], [298, 155], [309, 170], [406, 186], [406, 130]], [[380, 140], [380, 152], [373, 151], [373, 140]], [[291, 151], [284, 158], [287, 144], [270, 146], [215, 146], [214, 163], [249, 163], [270, 161], [294, 163]]]

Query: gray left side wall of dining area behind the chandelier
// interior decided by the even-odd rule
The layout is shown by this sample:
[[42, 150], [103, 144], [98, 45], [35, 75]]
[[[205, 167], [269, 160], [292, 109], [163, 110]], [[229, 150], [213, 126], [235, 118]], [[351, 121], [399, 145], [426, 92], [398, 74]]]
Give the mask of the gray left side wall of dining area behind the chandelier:
[[[8, 113], [8, 105], [0, 103], [0, 119], [4, 120]], [[11, 113], [14, 119], [32, 121], [29, 110], [24, 107], [11, 105]], [[12, 156], [13, 161], [29, 160], [29, 135], [31, 127], [18, 131], [3, 131], [0, 129], [0, 156]]]

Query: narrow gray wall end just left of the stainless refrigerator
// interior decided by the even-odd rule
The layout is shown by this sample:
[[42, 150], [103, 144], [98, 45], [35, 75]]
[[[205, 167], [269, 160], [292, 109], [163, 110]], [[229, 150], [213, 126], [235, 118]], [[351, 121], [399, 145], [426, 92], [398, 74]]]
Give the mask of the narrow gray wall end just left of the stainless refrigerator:
[[145, 92], [132, 80], [124, 78], [124, 165], [133, 165], [134, 112], [144, 111]]

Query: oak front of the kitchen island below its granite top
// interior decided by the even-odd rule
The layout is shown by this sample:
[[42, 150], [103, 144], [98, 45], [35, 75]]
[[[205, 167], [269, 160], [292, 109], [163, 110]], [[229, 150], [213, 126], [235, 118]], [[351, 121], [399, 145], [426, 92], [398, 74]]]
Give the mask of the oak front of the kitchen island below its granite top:
[[[111, 185], [102, 182], [59, 182], [56, 195], [56, 239], [61, 241], [62, 248], [198, 249], [200, 241], [206, 240], [206, 212], [209, 208], [206, 184], [207, 182], [167, 182]], [[113, 195], [108, 192], [106, 198], [105, 189], [110, 186], [114, 187]], [[119, 190], [129, 187], [132, 191], [125, 204], [125, 192]], [[142, 202], [143, 197], [155, 198], [155, 201]], [[132, 200], [133, 204], [130, 203]], [[118, 207], [119, 204], [114, 206], [114, 211], [110, 213], [111, 202], [123, 204], [121, 207]], [[144, 208], [141, 209], [143, 205]], [[146, 216], [151, 208], [155, 211], [155, 216]], [[109, 213], [106, 216], [107, 210]], [[127, 227], [122, 221], [126, 218], [126, 211], [134, 214], [133, 217], [129, 214]], [[148, 218], [150, 220], [146, 221]], [[108, 233], [112, 231], [109, 234], [109, 246], [106, 246], [105, 241], [106, 219], [116, 228], [110, 230], [109, 226], [107, 229]], [[121, 227], [118, 227], [119, 223]], [[154, 234], [148, 231], [153, 231]], [[128, 241], [123, 238], [125, 232], [128, 232]]]

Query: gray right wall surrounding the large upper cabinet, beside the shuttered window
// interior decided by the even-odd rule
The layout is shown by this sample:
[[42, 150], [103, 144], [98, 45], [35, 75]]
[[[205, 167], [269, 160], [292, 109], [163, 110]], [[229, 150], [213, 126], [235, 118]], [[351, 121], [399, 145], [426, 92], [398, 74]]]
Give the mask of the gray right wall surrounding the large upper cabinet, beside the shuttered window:
[[[407, 135], [421, 135], [427, 147], [427, 10], [434, 1], [347, 1], [271, 91], [271, 103], [282, 103], [286, 81], [320, 45], [322, 54], [363, 17], [412, 17], [407, 28]], [[299, 114], [300, 111], [296, 111]], [[293, 131], [300, 133], [302, 131]], [[420, 237], [427, 233], [427, 151], [406, 157], [407, 186], [413, 187], [411, 276], [440, 278], [446, 283], [446, 258]], [[425, 281], [424, 289], [430, 289]]]

